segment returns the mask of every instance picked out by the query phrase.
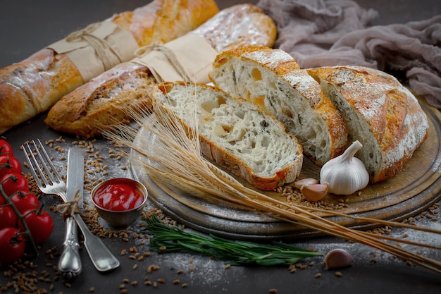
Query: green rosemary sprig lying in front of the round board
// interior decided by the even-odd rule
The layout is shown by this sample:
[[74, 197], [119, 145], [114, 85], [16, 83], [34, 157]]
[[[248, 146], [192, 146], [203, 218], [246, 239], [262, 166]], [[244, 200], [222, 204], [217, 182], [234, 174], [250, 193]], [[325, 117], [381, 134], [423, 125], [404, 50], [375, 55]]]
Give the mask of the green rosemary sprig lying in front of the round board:
[[215, 259], [228, 262], [231, 265], [274, 266], [294, 264], [300, 259], [322, 255], [289, 244], [275, 242], [271, 245], [252, 243], [240, 240], [227, 240], [215, 235], [199, 235], [183, 231], [180, 228], [167, 226], [162, 223], [156, 214], [150, 219], [143, 219], [153, 238], [150, 239], [150, 248], [157, 252], [197, 252]]

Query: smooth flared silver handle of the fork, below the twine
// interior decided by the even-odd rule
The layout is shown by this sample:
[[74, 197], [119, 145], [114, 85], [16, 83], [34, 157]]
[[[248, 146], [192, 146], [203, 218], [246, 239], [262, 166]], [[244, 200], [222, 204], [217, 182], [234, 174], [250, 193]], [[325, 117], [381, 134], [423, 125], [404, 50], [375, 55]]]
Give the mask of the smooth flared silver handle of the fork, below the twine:
[[106, 245], [96, 235], [89, 231], [86, 223], [82, 220], [80, 214], [75, 214], [75, 221], [85, 238], [85, 247], [89, 257], [92, 260], [95, 268], [99, 271], [110, 271], [120, 266], [120, 262], [108, 250]]

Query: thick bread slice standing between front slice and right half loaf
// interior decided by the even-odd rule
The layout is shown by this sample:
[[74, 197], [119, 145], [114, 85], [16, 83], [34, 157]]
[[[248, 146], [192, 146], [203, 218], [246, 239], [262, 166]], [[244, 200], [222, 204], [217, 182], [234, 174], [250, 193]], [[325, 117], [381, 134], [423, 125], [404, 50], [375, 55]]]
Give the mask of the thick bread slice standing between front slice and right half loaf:
[[210, 79], [278, 118], [318, 165], [340, 155], [347, 145], [340, 112], [285, 51], [256, 46], [224, 51], [216, 57]]

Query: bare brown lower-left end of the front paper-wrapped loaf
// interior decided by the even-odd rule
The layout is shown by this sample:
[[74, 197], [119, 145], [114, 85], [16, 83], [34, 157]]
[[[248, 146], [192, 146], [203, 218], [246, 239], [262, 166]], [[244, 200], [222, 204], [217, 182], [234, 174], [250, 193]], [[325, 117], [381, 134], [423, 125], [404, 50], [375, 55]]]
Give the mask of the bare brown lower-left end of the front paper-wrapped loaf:
[[154, 78], [145, 66], [120, 63], [66, 94], [44, 122], [63, 133], [94, 137], [129, 123], [129, 109], [150, 109]]

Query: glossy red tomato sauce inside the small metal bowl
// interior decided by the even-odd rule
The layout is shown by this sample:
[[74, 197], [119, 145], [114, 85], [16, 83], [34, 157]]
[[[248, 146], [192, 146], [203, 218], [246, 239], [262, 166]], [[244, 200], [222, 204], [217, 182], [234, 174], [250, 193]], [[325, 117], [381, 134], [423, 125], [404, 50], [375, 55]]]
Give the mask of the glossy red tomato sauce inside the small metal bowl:
[[93, 197], [99, 207], [114, 212], [134, 209], [144, 201], [142, 191], [124, 178], [108, 180], [108, 183], [97, 188]]

